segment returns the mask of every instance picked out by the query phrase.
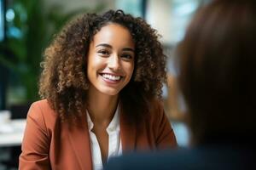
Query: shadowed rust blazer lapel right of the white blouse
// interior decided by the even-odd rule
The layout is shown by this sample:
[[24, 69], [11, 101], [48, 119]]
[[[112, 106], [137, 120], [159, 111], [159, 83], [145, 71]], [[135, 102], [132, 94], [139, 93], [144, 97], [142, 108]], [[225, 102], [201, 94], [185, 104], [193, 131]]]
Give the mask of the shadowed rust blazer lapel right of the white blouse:
[[136, 125], [127, 121], [124, 111], [120, 110], [120, 137], [122, 149], [129, 152], [136, 149]]

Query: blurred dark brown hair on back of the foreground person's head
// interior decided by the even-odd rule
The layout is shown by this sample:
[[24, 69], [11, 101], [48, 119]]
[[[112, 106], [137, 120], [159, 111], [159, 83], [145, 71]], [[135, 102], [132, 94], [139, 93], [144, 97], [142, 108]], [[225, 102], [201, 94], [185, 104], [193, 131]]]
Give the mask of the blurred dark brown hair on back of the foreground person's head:
[[255, 37], [253, 0], [216, 0], [195, 14], [177, 54], [196, 143], [255, 133]]

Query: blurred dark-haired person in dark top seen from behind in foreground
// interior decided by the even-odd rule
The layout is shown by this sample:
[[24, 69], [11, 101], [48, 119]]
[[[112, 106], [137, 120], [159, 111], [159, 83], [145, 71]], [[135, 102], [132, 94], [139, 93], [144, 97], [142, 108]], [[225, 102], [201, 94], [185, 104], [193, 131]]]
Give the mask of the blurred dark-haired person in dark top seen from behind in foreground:
[[191, 146], [121, 156], [107, 169], [256, 169], [256, 2], [200, 8], [177, 48]]

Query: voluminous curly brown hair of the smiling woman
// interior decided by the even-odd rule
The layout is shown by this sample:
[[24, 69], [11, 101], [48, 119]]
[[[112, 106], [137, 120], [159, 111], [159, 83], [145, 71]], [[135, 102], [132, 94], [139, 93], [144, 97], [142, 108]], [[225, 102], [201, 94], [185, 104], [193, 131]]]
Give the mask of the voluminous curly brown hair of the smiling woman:
[[[87, 53], [96, 32], [109, 23], [125, 26], [135, 42], [135, 69], [131, 81], [120, 91], [119, 100], [129, 117], [150, 111], [154, 99], [161, 99], [166, 82], [166, 55], [159, 34], [145, 20], [121, 10], [104, 14], [83, 14], [64, 26], [45, 49], [39, 94], [62, 120], [84, 115], [87, 78]], [[131, 116], [131, 114], [133, 116]]]

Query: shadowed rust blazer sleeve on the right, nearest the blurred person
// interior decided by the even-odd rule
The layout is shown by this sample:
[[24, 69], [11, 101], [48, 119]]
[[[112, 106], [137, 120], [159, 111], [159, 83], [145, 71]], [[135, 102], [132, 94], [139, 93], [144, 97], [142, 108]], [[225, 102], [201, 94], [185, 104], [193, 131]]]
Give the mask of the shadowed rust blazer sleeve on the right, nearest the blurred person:
[[177, 147], [177, 140], [172, 125], [166, 116], [163, 105], [158, 103], [156, 113], [153, 114], [155, 143], [158, 149]]

